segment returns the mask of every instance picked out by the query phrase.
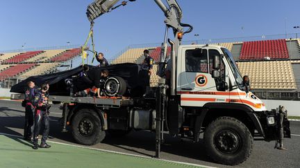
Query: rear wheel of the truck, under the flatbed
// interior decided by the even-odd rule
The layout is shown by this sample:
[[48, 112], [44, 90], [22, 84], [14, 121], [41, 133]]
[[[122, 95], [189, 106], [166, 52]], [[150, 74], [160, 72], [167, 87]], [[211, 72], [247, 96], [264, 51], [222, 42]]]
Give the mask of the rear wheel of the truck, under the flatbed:
[[81, 109], [75, 113], [72, 120], [72, 134], [78, 143], [85, 145], [97, 144], [106, 136], [99, 116], [91, 109]]

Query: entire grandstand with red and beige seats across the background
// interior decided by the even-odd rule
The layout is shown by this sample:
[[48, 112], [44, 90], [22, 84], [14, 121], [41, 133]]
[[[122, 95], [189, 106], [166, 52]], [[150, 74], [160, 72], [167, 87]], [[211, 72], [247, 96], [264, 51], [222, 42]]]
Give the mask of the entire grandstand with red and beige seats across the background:
[[[209, 40], [208, 44], [224, 46], [231, 50], [242, 75], [249, 75], [251, 88], [260, 97], [283, 98], [290, 95], [300, 98], [300, 39], [271, 37], [258, 39]], [[183, 41], [192, 44], [194, 41]], [[131, 62], [141, 64], [143, 51], [148, 49], [154, 62], [159, 62], [159, 44], [139, 44], [129, 46], [119, 53], [112, 64]], [[58, 66], [80, 55], [80, 48], [60, 48], [51, 50], [28, 50], [0, 55], [0, 83], [6, 80], [24, 80], [32, 75], [51, 73]], [[167, 48], [170, 55], [171, 48]], [[160, 77], [156, 75], [158, 65], [153, 66], [151, 86], [157, 86]], [[266, 94], [267, 93], [267, 94]], [[288, 94], [288, 96], [287, 96]], [[290, 95], [289, 95], [290, 94]]]

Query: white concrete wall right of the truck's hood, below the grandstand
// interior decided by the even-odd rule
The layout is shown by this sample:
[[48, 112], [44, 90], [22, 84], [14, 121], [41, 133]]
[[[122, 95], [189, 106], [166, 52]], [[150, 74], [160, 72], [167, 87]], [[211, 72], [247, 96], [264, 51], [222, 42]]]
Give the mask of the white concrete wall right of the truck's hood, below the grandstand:
[[268, 110], [276, 109], [279, 105], [285, 106], [290, 116], [300, 116], [300, 101], [290, 100], [263, 100]]

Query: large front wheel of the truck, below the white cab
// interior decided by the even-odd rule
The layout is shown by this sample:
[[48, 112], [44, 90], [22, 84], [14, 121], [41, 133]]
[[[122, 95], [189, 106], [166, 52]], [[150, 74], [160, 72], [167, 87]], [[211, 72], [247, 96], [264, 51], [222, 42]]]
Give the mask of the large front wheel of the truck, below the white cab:
[[203, 139], [210, 158], [225, 165], [244, 162], [252, 151], [253, 138], [249, 129], [231, 117], [221, 117], [211, 122]]

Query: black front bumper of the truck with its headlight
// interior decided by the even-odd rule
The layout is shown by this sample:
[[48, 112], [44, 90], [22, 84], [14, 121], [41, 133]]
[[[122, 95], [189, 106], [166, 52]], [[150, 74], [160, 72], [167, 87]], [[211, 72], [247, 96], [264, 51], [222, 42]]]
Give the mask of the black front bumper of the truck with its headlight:
[[256, 116], [260, 121], [261, 129], [263, 129], [263, 137], [266, 141], [291, 138], [287, 111], [273, 109], [272, 111], [256, 113]]

